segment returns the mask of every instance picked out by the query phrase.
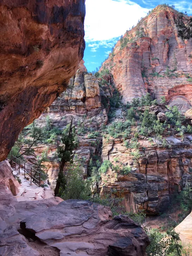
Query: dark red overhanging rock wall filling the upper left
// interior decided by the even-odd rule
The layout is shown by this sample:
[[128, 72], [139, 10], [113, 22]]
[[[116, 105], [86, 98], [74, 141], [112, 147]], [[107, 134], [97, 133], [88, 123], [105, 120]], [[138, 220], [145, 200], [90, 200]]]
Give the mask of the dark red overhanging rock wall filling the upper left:
[[85, 0], [0, 1], [0, 161], [75, 74], [84, 16]]

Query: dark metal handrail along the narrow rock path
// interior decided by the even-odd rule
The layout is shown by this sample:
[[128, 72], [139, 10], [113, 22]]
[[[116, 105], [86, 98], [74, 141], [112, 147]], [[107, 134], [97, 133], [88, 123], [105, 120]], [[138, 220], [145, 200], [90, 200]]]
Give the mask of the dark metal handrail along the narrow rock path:
[[[15, 170], [16, 170], [16, 165], [19, 166], [19, 174], [20, 174], [20, 169], [22, 169], [22, 170], [24, 171], [24, 177], [25, 177], [25, 173], [28, 174], [28, 175], [30, 176], [30, 178], [31, 178], [31, 184], [32, 184], [32, 179], [33, 179], [33, 180], [36, 180], [36, 181], [39, 183], [39, 187], [40, 187], [40, 183], [41, 183], [41, 178], [40, 178], [40, 177], [41, 177], [41, 173], [40, 173], [39, 171], [37, 171], [36, 169], [34, 169], [33, 167], [31, 167], [31, 166], [25, 164], [25, 162], [23, 162], [22, 160], [18, 159], [16, 156], [14, 156], [14, 155], [13, 155], [13, 151], [11, 151], [10, 153], [11, 153], [11, 155], [9, 154], [8, 156], [11, 157], [11, 159], [10, 159], [11, 163], [13, 162], [13, 163], [15, 164]], [[13, 161], [13, 159], [14, 159], [15, 161]], [[16, 159], [19, 161], [19, 164], [17, 164]], [[22, 167], [20, 166], [20, 163], [23, 163], [23, 164], [24, 164], [24, 168], [22, 168]], [[31, 173], [28, 173], [28, 170], [26, 170], [25, 167], [29, 167], [29, 168], [31, 169]], [[37, 180], [35, 177], [32, 176], [32, 170], [35, 171], [35, 174], [36, 174], [36, 173], [39, 173], [39, 180]], [[36, 175], [35, 175], [35, 176], [36, 176]]]

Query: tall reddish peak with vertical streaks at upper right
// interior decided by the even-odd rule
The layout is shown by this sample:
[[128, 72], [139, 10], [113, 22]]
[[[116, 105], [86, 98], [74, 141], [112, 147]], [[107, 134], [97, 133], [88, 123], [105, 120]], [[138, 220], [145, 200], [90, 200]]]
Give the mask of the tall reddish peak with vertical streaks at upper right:
[[177, 11], [156, 7], [119, 40], [103, 63], [114, 76], [123, 102], [150, 92], [182, 111], [192, 106], [192, 41], [178, 37]]

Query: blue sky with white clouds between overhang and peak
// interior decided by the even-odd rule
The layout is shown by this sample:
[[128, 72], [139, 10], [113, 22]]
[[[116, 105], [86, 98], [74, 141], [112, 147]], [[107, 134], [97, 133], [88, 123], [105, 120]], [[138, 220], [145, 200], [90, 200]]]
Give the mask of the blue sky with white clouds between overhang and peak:
[[83, 59], [87, 70], [98, 68], [120, 36], [159, 4], [174, 5], [192, 15], [192, 0], [86, 0]]

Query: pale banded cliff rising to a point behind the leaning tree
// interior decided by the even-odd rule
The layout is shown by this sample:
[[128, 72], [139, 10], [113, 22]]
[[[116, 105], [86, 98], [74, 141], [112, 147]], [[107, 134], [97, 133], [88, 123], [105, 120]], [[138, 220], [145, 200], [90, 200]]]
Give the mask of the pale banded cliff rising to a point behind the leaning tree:
[[[87, 137], [89, 131], [100, 130], [101, 126], [108, 122], [107, 110], [103, 108], [101, 96], [107, 98], [104, 91], [100, 89], [95, 76], [87, 73], [87, 69], [83, 64], [83, 60], [79, 63], [76, 75], [70, 79], [68, 89], [63, 92], [53, 104], [36, 120], [37, 125], [44, 127], [46, 117], [49, 116], [51, 126], [62, 130], [70, 123], [71, 119], [77, 125], [80, 122], [82, 133], [78, 132], [79, 146], [76, 154], [83, 160], [83, 175], [87, 178], [88, 166], [91, 154], [101, 151], [102, 138]], [[52, 189], [55, 189], [58, 177], [59, 164], [54, 161], [53, 156], [57, 149], [57, 143], [44, 144], [35, 147], [36, 155], [40, 155], [47, 150], [49, 162], [45, 162], [49, 182]]]

